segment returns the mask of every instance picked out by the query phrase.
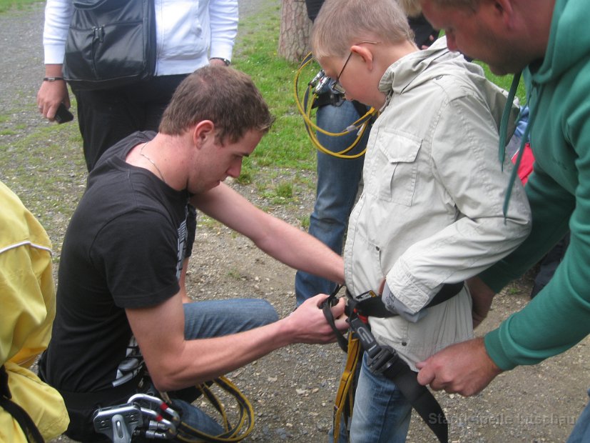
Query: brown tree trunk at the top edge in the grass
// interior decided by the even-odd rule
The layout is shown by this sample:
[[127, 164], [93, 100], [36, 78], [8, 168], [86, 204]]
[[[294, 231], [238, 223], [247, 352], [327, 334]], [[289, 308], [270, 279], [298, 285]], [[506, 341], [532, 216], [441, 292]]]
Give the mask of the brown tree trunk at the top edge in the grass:
[[279, 56], [299, 62], [310, 51], [312, 22], [304, 0], [283, 0], [280, 8]]

